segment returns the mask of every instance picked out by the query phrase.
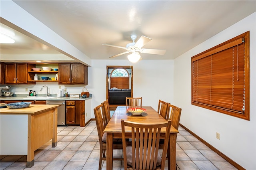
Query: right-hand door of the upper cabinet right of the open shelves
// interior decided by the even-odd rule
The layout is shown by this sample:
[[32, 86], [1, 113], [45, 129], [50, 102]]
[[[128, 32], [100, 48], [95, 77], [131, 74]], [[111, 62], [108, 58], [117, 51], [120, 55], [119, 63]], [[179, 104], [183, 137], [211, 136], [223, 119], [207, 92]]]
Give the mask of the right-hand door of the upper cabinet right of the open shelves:
[[71, 64], [71, 82], [72, 84], [84, 84], [84, 65], [81, 63]]

